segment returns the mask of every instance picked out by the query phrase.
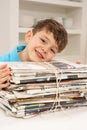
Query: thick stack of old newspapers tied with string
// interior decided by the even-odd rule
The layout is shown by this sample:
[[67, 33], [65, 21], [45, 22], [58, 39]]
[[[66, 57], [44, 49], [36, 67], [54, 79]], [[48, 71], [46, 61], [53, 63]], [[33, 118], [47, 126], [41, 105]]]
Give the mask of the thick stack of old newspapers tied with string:
[[87, 66], [67, 61], [10, 62], [11, 85], [0, 107], [14, 117], [87, 106]]

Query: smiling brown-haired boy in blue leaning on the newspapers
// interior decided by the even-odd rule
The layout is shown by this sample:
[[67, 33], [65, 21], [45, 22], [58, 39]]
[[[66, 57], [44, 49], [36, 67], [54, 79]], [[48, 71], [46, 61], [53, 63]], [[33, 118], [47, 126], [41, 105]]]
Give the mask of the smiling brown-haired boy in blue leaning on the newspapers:
[[[48, 62], [67, 45], [65, 28], [53, 19], [39, 21], [25, 35], [26, 46], [17, 46], [8, 54], [0, 56], [0, 62]], [[10, 85], [10, 70], [0, 66], [0, 88]]]

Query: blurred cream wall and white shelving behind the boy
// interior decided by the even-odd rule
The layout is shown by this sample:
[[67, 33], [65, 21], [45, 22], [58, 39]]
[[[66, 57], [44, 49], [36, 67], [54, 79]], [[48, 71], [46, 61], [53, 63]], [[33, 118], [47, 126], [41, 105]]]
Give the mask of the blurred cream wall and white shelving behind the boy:
[[39, 20], [53, 18], [68, 32], [68, 46], [55, 59], [87, 64], [86, 0], [0, 0], [0, 55], [24, 44]]

